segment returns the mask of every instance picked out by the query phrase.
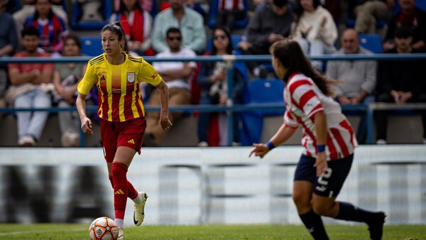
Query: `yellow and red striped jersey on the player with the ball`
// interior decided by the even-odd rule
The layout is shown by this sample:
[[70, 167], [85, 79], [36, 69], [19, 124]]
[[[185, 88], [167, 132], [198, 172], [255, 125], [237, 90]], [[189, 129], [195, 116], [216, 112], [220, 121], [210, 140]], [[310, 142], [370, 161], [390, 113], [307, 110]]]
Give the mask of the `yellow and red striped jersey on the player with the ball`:
[[78, 84], [78, 92], [87, 95], [96, 83], [99, 90], [98, 115], [101, 119], [129, 121], [145, 116], [139, 83], [148, 82], [156, 86], [161, 82], [158, 72], [143, 58], [127, 54], [125, 58], [121, 65], [111, 65], [105, 54], [92, 58]]

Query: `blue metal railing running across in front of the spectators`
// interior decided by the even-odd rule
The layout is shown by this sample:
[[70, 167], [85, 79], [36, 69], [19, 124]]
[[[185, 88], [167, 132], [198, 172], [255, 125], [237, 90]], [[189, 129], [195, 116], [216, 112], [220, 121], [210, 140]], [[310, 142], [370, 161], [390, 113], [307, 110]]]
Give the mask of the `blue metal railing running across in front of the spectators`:
[[[426, 53], [417, 54], [352, 54], [352, 55], [311, 55], [308, 56], [310, 60], [426, 60]], [[1, 63], [28, 63], [28, 62], [87, 62], [92, 57], [61, 57], [61, 58], [0, 58]], [[224, 55], [224, 56], [197, 56], [195, 58], [155, 58], [146, 57], [144, 58], [147, 62], [226, 62], [226, 70], [228, 77], [228, 94], [232, 94], [232, 78], [234, 72], [232, 71], [232, 63], [235, 61], [243, 62], [271, 62], [271, 55]], [[263, 111], [271, 109], [283, 109], [284, 104], [250, 104], [250, 105], [234, 105], [231, 98], [226, 102], [226, 106], [218, 105], [189, 105], [189, 106], [171, 106], [170, 111], [214, 111], [214, 112], [226, 112], [228, 116], [228, 132], [231, 133], [234, 129], [234, 121], [232, 112], [233, 111]], [[145, 107], [146, 111], [160, 111], [160, 107]], [[373, 111], [374, 107], [368, 107], [364, 104], [358, 105], [342, 105], [344, 111], [364, 111], [367, 118], [367, 143], [373, 143]], [[75, 111], [75, 107], [70, 108], [58, 108], [52, 107], [49, 109], [14, 109], [14, 108], [0, 108], [0, 112], [16, 112], [16, 111]], [[87, 111], [97, 111], [97, 107], [87, 106]], [[234, 141], [233, 134], [228, 134], [228, 144]], [[84, 138], [82, 139], [81, 146], [84, 146]]]

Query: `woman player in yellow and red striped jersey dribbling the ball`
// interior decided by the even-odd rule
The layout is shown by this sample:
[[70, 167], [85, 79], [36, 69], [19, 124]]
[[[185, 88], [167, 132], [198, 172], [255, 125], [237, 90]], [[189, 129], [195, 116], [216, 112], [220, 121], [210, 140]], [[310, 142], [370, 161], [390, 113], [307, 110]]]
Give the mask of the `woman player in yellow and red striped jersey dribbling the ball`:
[[157, 71], [143, 58], [135, 58], [123, 51], [124, 31], [119, 23], [110, 23], [101, 31], [104, 54], [92, 58], [86, 74], [78, 84], [76, 105], [82, 131], [92, 135], [92, 121], [86, 115], [84, 99], [93, 84], [99, 89], [98, 115], [101, 137], [107, 160], [109, 180], [114, 187], [115, 222], [119, 239], [124, 235], [124, 211], [127, 197], [134, 202], [134, 223], [139, 226], [145, 214], [145, 192], [138, 192], [127, 180], [126, 173], [133, 156], [141, 154], [143, 133], [146, 129], [145, 111], [139, 84], [148, 82], [160, 90], [160, 125], [172, 126], [168, 119], [168, 87]]

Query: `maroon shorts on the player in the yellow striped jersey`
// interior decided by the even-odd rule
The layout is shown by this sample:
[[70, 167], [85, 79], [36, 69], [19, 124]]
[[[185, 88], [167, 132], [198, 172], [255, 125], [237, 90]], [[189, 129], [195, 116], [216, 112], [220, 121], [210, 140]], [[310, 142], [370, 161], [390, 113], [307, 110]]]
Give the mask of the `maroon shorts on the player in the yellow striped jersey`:
[[141, 117], [129, 121], [113, 122], [101, 120], [101, 138], [104, 157], [108, 163], [114, 160], [117, 148], [126, 146], [141, 154], [146, 119]]

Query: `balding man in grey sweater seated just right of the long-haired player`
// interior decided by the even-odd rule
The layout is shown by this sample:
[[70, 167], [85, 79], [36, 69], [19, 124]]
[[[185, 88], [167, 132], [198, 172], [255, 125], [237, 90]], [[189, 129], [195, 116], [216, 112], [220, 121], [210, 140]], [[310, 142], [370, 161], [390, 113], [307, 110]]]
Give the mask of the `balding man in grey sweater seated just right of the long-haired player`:
[[[346, 29], [342, 34], [343, 48], [334, 55], [345, 54], [371, 54], [369, 50], [359, 45], [358, 33], [352, 28]], [[334, 86], [337, 102], [345, 104], [369, 104], [374, 102], [373, 92], [376, 87], [376, 67], [373, 60], [339, 60], [327, 63], [327, 77], [342, 80], [342, 84]], [[359, 143], [366, 140], [366, 119], [361, 121], [356, 133]]]

